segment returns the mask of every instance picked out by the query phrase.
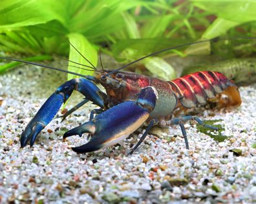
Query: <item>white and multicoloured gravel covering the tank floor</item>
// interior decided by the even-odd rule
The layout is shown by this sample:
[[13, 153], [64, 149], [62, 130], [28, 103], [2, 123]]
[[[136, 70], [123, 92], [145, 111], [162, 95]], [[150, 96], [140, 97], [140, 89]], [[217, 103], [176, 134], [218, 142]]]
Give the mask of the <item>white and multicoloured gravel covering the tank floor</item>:
[[[65, 75], [23, 66], [0, 76], [0, 203], [253, 203], [256, 202], [256, 90], [240, 87], [242, 106], [204, 111], [229, 136], [216, 142], [187, 123], [190, 149], [177, 126], [157, 129], [131, 156], [142, 134], [90, 154], [70, 147], [87, 135], [63, 142], [67, 129], [89, 120], [87, 105], [67, 120], [53, 120], [34, 147], [20, 149], [19, 136]], [[81, 96], [72, 97], [78, 102]], [[67, 108], [73, 106], [70, 103]], [[59, 112], [58, 115], [61, 115]]]

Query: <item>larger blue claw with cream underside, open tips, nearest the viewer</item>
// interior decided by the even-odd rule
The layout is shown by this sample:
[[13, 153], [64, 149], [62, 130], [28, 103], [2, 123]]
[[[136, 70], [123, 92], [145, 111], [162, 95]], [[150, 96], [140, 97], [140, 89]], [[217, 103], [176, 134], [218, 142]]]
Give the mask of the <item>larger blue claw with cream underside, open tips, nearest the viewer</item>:
[[72, 148], [76, 153], [88, 153], [117, 144], [144, 124], [155, 108], [156, 98], [156, 89], [148, 86], [140, 91], [137, 100], [123, 102], [107, 109], [91, 121], [71, 129], [63, 137], [92, 134], [87, 144]]

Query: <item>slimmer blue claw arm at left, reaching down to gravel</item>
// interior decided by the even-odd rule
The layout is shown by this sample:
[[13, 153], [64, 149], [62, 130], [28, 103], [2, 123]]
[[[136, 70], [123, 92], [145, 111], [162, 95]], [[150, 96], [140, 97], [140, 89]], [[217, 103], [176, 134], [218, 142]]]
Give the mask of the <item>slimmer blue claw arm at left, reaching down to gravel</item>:
[[36, 116], [30, 120], [25, 131], [21, 134], [21, 147], [25, 147], [28, 140], [30, 140], [30, 146], [34, 144], [37, 134], [54, 118], [61, 105], [67, 101], [73, 90], [79, 91], [85, 98], [103, 107], [103, 93], [94, 83], [83, 78], [69, 80], [56, 89], [39, 109]]

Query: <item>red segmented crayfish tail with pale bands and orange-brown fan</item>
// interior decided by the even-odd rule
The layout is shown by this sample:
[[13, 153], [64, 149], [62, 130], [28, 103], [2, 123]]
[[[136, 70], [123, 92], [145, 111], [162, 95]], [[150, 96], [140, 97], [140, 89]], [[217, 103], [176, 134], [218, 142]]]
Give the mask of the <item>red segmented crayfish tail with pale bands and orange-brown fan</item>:
[[222, 106], [239, 106], [237, 86], [217, 71], [198, 71], [170, 82], [182, 106], [186, 108], [206, 104], [217, 98]]

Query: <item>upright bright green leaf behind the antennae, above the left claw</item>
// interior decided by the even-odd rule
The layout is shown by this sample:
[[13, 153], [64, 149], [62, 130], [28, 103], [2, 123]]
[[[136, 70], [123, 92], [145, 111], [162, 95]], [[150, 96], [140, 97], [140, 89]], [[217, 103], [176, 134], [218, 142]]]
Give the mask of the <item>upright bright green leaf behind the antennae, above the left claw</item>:
[[[98, 61], [98, 55], [96, 49], [92, 46], [92, 44], [80, 33], [70, 33], [68, 35], [70, 43], [78, 50], [80, 53], [93, 64], [93, 66], [97, 65]], [[87, 66], [92, 66], [87, 60], [81, 56], [78, 51], [76, 51], [72, 46], [70, 46], [69, 51], [69, 60], [72, 60], [74, 62], [78, 62], [80, 64], [84, 64]], [[76, 73], [80, 73], [82, 75], [92, 75], [92, 71], [85, 71], [81, 70], [79, 68], [74, 68], [72, 66], [78, 66], [80, 68], [86, 68], [77, 64], [74, 64], [72, 62], [69, 62], [69, 71], [73, 71]], [[88, 68], [87, 68], [88, 69]], [[68, 80], [73, 79], [74, 75], [68, 75]]]

